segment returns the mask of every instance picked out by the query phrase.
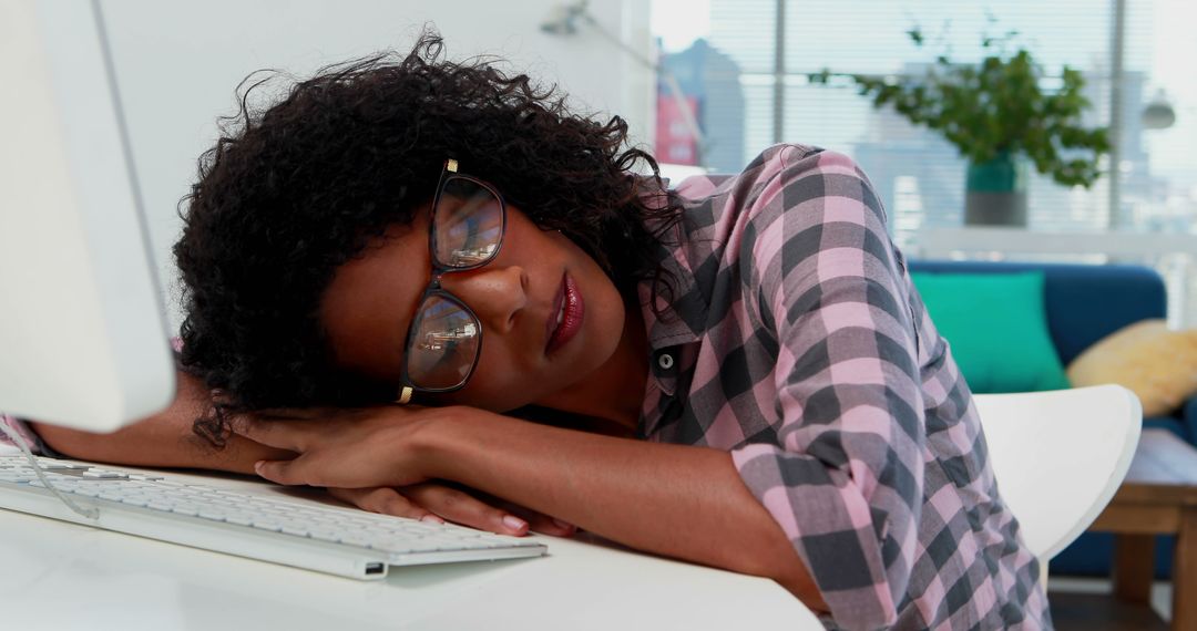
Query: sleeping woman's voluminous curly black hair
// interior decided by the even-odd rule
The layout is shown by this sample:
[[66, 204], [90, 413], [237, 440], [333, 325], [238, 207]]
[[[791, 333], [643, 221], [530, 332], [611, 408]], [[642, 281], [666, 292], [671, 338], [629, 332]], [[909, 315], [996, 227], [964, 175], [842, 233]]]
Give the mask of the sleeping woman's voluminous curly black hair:
[[[680, 206], [642, 196], [662, 182], [652, 157], [627, 146], [627, 123], [573, 114], [555, 87], [443, 49], [425, 31], [407, 55], [326, 67], [265, 109], [250, 96], [269, 78], [238, 87], [239, 111], [181, 202], [174, 249], [181, 366], [214, 393], [198, 434], [223, 443], [229, 411], [393, 394], [334, 366], [318, 305], [339, 265], [431, 200], [450, 157], [571, 238], [627, 295], [642, 280], [669, 289], [656, 246]], [[651, 176], [636, 174], [642, 165]]]

